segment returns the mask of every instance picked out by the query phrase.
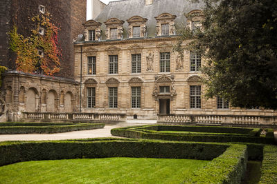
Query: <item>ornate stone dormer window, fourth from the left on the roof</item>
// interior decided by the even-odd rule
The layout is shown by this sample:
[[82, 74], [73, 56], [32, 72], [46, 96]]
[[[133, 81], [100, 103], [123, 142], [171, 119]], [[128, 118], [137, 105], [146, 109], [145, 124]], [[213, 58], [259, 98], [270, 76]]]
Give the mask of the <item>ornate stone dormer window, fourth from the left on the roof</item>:
[[171, 36], [176, 34], [175, 29], [175, 19], [176, 15], [169, 13], [160, 14], [158, 17], [155, 17], [157, 20], [156, 24], [156, 35], [160, 36]]

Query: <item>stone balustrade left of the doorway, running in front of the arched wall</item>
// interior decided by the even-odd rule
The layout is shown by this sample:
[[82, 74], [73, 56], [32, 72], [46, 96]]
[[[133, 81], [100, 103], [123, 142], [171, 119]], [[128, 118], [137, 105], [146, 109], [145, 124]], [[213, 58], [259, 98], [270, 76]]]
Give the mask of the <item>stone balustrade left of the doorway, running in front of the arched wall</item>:
[[28, 121], [86, 121], [125, 122], [126, 114], [66, 113], [66, 112], [23, 112]]

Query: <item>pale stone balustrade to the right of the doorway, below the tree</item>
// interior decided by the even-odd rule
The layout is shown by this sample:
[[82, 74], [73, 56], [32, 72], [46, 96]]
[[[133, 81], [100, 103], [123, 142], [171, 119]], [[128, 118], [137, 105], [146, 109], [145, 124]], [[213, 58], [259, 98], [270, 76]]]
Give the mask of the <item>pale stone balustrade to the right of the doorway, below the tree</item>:
[[199, 123], [221, 125], [277, 125], [277, 116], [159, 114], [158, 123]]

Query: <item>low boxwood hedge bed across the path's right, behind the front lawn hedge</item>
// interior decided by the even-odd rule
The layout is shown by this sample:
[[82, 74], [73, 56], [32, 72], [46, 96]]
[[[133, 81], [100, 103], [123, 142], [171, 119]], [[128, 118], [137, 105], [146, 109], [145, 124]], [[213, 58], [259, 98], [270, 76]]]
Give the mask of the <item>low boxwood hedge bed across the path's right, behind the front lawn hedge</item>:
[[[248, 134], [238, 135], [234, 134], [236, 128], [231, 127], [230, 134], [226, 135], [228, 128], [224, 129], [220, 127], [207, 127], [210, 132], [216, 128], [218, 134], [178, 134], [178, 133], [161, 133], [159, 130], [172, 130], [172, 131], [187, 131], [187, 130], [201, 130], [204, 131], [205, 127], [199, 126], [168, 126], [168, 125], [147, 125], [139, 127], [121, 127], [111, 130], [111, 134], [114, 136], [124, 136], [135, 139], [161, 139], [167, 141], [195, 141], [195, 142], [243, 142], [243, 143], [265, 143], [274, 144], [274, 138], [272, 137], [260, 137], [260, 129], [247, 129]], [[239, 131], [246, 133], [246, 128], [237, 128]], [[224, 130], [224, 134], [220, 134], [220, 130]], [[200, 132], [201, 132], [200, 131]]]

